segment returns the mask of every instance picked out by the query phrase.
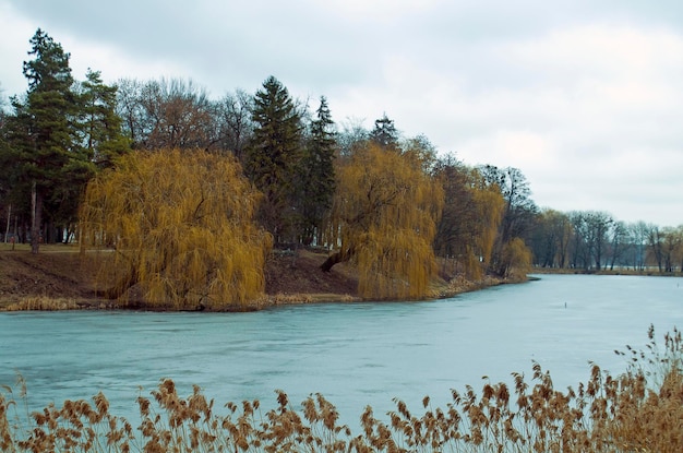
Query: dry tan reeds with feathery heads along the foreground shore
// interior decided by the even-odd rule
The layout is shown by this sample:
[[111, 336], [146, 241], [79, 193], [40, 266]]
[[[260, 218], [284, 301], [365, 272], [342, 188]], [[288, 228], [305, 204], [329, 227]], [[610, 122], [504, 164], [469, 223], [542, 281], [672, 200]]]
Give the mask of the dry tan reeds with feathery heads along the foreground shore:
[[[627, 371], [612, 377], [591, 365], [590, 378], [559, 391], [534, 363], [530, 379], [452, 391], [446, 407], [422, 401], [419, 414], [395, 400], [383, 419], [368, 406], [360, 431], [339, 424], [335, 406], [310, 395], [295, 409], [277, 391], [275, 408], [259, 401], [216, 409], [195, 386], [181, 397], [163, 380], [137, 397], [140, 422], [109, 412], [104, 394], [28, 414], [26, 389], [0, 392], [2, 452], [680, 452], [683, 450], [683, 342], [676, 329], [663, 347], [648, 331], [645, 350], [616, 351]], [[22, 402], [24, 404], [22, 404]]]

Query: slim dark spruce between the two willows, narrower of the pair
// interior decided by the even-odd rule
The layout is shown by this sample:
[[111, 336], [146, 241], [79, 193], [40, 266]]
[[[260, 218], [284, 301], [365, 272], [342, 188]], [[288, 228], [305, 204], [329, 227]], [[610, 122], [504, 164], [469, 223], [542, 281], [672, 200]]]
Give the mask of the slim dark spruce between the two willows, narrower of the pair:
[[322, 223], [332, 206], [335, 191], [334, 159], [336, 133], [327, 99], [320, 98], [316, 117], [311, 122], [311, 134], [301, 159], [301, 214], [305, 241], [321, 243]]

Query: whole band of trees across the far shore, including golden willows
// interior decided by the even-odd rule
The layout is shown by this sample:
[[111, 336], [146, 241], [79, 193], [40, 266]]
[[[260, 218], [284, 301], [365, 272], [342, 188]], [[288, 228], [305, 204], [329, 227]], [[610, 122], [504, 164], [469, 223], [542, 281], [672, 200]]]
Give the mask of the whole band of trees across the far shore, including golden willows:
[[220, 98], [179, 79], [76, 80], [41, 29], [28, 57], [27, 91], [0, 109], [2, 240], [112, 251], [107, 297], [249, 300], [272, 250], [303, 247], [327, 252], [322, 272], [356, 265], [375, 299], [424, 297], [435, 275], [683, 270], [683, 226], [540, 208], [517, 168], [469, 166], [386, 114], [337, 123], [324, 96], [272, 75]]

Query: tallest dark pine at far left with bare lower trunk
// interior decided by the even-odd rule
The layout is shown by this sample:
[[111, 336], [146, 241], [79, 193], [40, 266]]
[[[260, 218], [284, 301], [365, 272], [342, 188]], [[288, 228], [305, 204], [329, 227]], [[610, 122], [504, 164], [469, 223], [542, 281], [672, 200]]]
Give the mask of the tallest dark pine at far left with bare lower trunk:
[[31, 243], [37, 253], [44, 206], [49, 205], [52, 218], [67, 217], [74, 206], [70, 196], [94, 167], [83, 148], [74, 145], [77, 102], [69, 53], [39, 28], [29, 43], [34, 59], [23, 67], [28, 91], [23, 99], [12, 98], [11, 146], [4, 158], [15, 166], [13, 190], [31, 193]]

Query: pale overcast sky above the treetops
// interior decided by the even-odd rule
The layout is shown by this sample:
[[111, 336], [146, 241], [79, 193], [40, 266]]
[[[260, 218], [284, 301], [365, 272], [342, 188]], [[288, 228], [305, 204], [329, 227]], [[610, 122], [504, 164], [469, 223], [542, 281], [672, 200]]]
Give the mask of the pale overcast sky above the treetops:
[[219, 98], [274, 75], [339, 128], [386, 114], [464, 164], [515, 167], [541, 208], [683, 225], [679, 0], [0, 0], [5, 99], [38, 27], [77, 80]]

